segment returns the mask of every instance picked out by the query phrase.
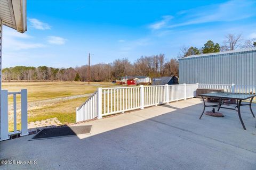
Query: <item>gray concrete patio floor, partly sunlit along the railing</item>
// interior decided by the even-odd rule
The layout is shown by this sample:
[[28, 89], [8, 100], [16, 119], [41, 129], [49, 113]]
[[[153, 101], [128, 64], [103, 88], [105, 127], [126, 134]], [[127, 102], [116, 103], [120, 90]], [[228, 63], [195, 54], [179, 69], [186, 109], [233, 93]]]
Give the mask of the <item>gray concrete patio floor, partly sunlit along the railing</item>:
[[82, 123], [93, 125], [91, 134], [3, 141], [1, 159], [37, 164], [0, 168], [255, 169], [256, 119], [249, 107], [242, 107], [246, 131], [237, 112], [222, 109], [225, 117], [203, 115], [199, 120], [202, 109], [202, 100], [193, 98]]

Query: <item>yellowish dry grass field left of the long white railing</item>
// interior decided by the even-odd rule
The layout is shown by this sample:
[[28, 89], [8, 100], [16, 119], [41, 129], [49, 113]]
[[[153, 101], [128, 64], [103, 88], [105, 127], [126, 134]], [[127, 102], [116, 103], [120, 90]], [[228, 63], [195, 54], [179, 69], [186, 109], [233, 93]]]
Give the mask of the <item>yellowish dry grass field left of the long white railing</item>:
[[[62, 123], [74, 123], [76, 107], [98, 87], [111, 87], [109, 82], [4, 82], [3, 89], [28, 90], [28, 122], [57, 117]], [[85, 95], [88, 94], [86, 97]], [[77, 96], [81, 95], [81, 96]], [[13, 131], [13, 98], [9, 96], [9, 131]], [[17, 96], [17, 129], [20, 129], [20, 97]]]

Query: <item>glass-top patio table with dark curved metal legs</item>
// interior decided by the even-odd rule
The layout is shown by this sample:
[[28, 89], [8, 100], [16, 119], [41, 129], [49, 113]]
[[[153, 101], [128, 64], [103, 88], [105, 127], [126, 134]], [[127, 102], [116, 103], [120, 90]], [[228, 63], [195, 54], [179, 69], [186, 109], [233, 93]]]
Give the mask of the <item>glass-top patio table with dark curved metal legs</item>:
[[[231, 109], [231, 110], [236, 110], [236, 108], [237, 108], [239, 120], [240, 120], [244, 130], [246, 130], [244, 122], [243, 122], [242, 117], [241, 117], [240, 107], [241, 106], [250, 106], [250, 111], [252, 113], [252, 116], [255, 117], [253, 112], [252, 112], [252, 100], [256, 96], [256, 94], [235, 94], [235, 93], [231, 93], [231, 92], [211, 92], [209, 94], [201, 94], [199, 96], [202, 97], [203, 101], [204, 101], [204, 97], [219, 99], [219, 104], [215, 104], [215, 105], [205, 105], [205, 101], [204, 101], [203, 113], [201, 114], [199, 119], [201, 119], [201, 117], [203, 116], [205, 107], [218, 107], [218, 111], [220, 110], [220, 108]], [[228, 100], [228, 99], [235, 99], [237, 102], [236, 103], [227, 103], [227, 102], [225, 102], [225, 100]], [[247, 100], [247, 99], [251, 99], [249, 104], [241, 104], [242, 100]], [[222, 107], [221, 105], [223, 105], [225, 103], [230, 104], [230, 105], [233, 104], [233, 105], [236, 105], [236, 106], [235, 106], [235, 108]]]

